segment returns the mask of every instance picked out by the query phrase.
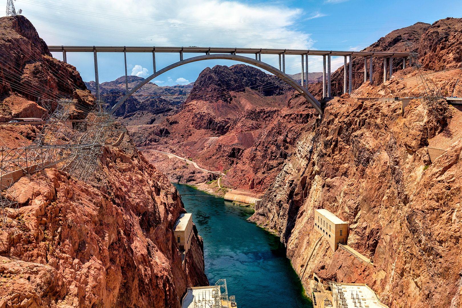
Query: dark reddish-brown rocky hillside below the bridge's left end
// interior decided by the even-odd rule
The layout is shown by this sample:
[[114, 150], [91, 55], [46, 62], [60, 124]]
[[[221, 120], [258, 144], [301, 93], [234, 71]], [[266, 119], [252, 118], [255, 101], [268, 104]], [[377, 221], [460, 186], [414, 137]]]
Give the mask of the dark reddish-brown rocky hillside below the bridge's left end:
[[76, 100], [71, 118], [83, 118], [93, 98], [74, 66], [51, 56], [48, 46], [24, 16], [0, 18], [1, 117], [40, 117], [37, 102]]

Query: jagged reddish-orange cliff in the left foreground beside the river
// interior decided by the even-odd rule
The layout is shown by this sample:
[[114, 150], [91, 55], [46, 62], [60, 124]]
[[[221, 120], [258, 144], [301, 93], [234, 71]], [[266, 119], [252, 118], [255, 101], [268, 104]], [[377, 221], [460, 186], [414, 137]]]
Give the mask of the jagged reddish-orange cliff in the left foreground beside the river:
[[185, 266], [172, 229], [184, 212], [168, 179], [126, 137], [88, 184], [56, 169], [21, 178], [1, 231], [6, 307], [180, 307], [207, 284], [195, 232]]

